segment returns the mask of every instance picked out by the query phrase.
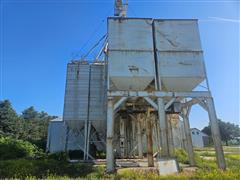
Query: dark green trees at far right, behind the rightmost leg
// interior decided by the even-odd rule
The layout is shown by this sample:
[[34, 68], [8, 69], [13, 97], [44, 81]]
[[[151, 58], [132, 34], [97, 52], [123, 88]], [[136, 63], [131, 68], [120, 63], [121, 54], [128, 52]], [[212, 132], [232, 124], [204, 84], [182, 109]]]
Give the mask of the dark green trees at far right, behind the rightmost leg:
[[[224, 122], [221, 120], [218, 120], [218, 124], [219, 124], [221, 139], [226, 143], [226, 146], [228, 146], [228, 141], [240, 136], [240, 128], [238, 125], [235, 125], [230, 122]], [[211, 136], [212, 133], [211, 133], [210, 125], [204, 127], [202, 129], [202, 132]]]

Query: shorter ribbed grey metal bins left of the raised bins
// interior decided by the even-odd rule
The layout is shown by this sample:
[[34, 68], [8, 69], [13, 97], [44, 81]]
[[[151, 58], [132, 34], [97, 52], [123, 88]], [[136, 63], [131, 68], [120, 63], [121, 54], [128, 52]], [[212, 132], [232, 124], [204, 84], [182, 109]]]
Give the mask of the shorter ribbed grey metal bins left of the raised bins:
[[91, 121], [97, 131], [106, 128], [105, 71], [101, 62], [68, 64], [63, 120], [73, 129]]

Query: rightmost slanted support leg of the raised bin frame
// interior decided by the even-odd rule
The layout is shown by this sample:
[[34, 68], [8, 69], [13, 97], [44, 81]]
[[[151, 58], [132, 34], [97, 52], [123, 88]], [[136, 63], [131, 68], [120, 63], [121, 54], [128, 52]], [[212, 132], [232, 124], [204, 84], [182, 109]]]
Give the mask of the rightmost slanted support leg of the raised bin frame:
[[225, 163], [223, 148], [221, 144], [221, 135], [219, 131], [218, 120], [217, 120], [217, 115], [214, 107], [213, 98], [207, 99], [207, 106], [208, 106], [208, 116], [211, 124], [212, 138], [213, 138], [215, 151], [216, 151], [217, 164], [220, 169], [225, 170], [226, 163]]

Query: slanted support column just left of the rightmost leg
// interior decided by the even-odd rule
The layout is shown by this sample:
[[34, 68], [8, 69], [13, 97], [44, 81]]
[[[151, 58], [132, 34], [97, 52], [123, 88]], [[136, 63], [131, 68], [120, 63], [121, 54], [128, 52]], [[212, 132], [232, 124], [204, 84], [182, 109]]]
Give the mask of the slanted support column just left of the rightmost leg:
[[183, 108], [183, 125], [186, 136], [186, 145], [187, 145], [187, 153], [190, 166], [195, 166], [194, 154], [193, 154], [193, 145], [192, 145], [192, 136], [188, 118], [188, 112], [186, 108]]

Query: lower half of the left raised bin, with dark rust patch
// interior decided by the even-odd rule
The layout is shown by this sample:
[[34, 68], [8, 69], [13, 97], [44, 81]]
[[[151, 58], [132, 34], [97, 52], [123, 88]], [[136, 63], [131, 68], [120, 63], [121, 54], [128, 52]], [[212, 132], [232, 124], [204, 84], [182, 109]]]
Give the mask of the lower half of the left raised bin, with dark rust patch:
[[145, 90], [155, 77], [153, 52], [109, 52], [111, 90]]

